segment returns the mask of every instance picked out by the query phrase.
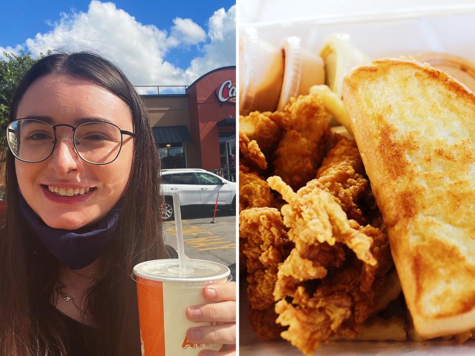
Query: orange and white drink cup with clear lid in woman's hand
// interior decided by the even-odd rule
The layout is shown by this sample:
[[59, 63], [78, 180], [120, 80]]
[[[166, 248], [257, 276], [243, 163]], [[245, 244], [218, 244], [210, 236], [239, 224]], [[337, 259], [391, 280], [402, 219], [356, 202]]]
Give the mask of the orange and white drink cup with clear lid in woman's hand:
[[142, 356], [197, 355], [201, 350], [220, 350], [221, 344], [195, 344], [187, 339], [194, 323], [187, 308], [207, 303], [203, 288], [226, 283], [228, 267], [204, 260], [186, 260], [180, 270], [177, 259], [147, 261], [134, 267], [141, 329]]

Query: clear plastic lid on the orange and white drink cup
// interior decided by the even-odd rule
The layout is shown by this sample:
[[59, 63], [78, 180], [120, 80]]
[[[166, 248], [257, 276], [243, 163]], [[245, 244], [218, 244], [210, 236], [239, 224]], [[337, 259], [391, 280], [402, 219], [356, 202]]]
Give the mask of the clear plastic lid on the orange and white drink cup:
[[231, 270], [217, 262], [185, 260], [185, 270], [180, 270], [178, 259], [142, 262], [134, 267], [132, 278], [137, 277], [162, 282], [210, 282], [228, 278]]

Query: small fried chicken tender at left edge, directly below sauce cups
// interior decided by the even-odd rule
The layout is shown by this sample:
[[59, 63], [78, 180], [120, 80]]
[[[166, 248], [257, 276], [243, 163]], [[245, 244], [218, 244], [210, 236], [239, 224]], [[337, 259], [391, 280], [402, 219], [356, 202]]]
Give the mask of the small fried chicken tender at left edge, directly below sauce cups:
[[274, 151], [282, 137], [282, 128], [272, 118], [271, 112], [258, 111], [239, 116], [239, 131], [255, 140], [265, 153]]

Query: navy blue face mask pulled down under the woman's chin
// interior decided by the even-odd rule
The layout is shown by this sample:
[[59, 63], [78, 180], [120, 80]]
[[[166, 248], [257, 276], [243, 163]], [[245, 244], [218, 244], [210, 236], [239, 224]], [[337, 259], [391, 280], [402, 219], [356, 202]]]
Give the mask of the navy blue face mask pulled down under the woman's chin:
[[122, 200], [99, 223], [78, 230], [49, 227], [35, 214], [21, 194], [20, 210], [47, 251], [63, 266], [80, 269], [92, 264], [115, 240], [114, 230], [122, 212]]

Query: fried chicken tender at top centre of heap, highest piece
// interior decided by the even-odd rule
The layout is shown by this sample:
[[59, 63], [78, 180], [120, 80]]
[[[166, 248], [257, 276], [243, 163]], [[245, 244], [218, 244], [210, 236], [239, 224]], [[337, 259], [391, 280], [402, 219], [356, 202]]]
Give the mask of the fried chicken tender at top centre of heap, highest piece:
[[315, 178], [329, 137], [327, 111], [316, 94], [291, 98], [272, 119], [284, 135], [275, 151], [274, 174], [298, 189]]

